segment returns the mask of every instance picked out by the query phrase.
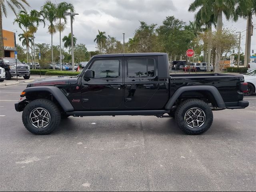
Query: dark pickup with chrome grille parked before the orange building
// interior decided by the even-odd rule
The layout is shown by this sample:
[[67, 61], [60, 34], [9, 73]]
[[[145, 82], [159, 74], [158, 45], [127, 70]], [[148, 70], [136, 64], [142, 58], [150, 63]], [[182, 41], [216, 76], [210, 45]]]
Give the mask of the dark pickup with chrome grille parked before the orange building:
[[23, 64], [17, 59], [17, 70], [16, 70], [16, 59], [10, 57], [0, 57], [0, 67], [5, 70], [5, 79], [10, 80], [12, 77], [23, 76], [24, 79], [30, 78], [30, 66]]

